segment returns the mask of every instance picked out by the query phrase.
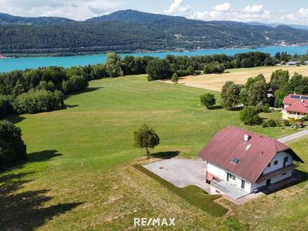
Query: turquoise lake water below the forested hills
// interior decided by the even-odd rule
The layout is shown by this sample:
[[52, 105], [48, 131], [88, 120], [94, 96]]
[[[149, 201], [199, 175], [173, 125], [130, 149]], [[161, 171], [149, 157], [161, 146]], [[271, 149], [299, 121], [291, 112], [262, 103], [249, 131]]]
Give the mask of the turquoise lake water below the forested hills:
[[[133, 56], [154, 56], [165, 57], [166, 55], [214, 55], [225, 54], [235, 55], [237, 53], [246, 53], [251, 51], [267, 52], [274, 55], [276, 52], [288, 52], [291, 55], [304, 55], [308, 51], [308, 46], [297, 47], [285, 47], [285, 46], [271, 46], [266, 48], [239, 48], [239, 49], [214, 49], [214, 50], [195, 50], [188, 52], [151, 52], [151, 53], [132, 53], [121, 54], [121, 57], [125, 55]], [[0, 72], [13, 71], [16, 69], [38, 68], [43, 66], [85, 66], [87, 64], [99, 64], [106, 62], [106, 55], [82, 55], [82, 56], [68, 56], [68, 57], [25, 57], [25, 58], [12, 58], [12, 59], [0, 59]]]

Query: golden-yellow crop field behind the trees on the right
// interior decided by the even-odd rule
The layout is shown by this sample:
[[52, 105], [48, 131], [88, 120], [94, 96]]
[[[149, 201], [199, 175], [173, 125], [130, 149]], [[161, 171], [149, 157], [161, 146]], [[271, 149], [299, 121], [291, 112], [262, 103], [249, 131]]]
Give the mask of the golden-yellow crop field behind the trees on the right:
[[[260, 66], [253, 68], [243, 69], [228, 69], [223, 74], [205, 74], [201, 76], [187, 76], [180, 78], [179, 84], [187, 85], [190, 87], [199, 87], [203, 89], [220, 91], [221, 87], [226, 81], [232, 80], [237, 84], [244, 84], [250, 77], [258, 76], [262, 73], [267, 81], [270, 80], [272, 72], [278, 69], [288, 70], [290, 76], [293, 73], [301, 73], [304, 76], [308, 76], [308, 65], [307, 66]], [[171, 83], [171, 81], [167, 81]]]

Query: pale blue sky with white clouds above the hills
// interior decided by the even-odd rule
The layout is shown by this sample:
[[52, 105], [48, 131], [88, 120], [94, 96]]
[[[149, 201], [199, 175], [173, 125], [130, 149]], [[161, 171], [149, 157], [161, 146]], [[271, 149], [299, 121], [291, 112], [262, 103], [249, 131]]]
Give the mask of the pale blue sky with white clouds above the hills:
[[0, 0], [1, 13], [28, 17], [85, 20], [125, 9], [180, 15], [196, 20], [308, 25], [307, 0]]

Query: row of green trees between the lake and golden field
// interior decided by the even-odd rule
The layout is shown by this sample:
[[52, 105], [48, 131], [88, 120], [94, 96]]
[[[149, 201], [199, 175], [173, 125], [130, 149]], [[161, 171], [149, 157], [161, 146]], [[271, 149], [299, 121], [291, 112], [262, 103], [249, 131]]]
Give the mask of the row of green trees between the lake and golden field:
[[165, 59], [149, 59], [146, 66], [148, 80], [171, 78], [174, 73], [179, 77], [204, 73], [223, 73], [225, 69], [273, 66], [277, 61], [267, 53], [248, 52], [246, 54], [206, 55], [206, 56], [174, 56], [167, 55]]

